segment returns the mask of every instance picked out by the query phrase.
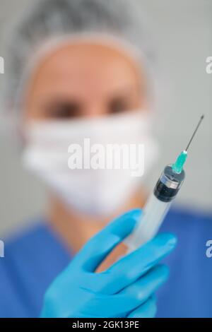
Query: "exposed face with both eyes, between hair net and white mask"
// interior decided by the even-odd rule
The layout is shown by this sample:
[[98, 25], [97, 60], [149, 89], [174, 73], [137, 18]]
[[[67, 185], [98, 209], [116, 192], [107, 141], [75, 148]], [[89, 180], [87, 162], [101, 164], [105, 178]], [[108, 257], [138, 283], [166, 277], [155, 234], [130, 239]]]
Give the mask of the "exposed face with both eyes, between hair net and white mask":
[[66, 45], [43, 59], [28, 85], [25, 120], [71, 119], [146, 108], [146, 79], [125, 54]]

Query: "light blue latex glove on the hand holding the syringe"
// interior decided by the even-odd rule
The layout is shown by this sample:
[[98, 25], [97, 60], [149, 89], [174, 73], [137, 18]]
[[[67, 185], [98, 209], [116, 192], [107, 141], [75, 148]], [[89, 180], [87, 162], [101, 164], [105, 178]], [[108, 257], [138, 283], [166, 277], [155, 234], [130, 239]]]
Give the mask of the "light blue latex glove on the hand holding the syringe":
[[141, 210], [122, 215], [92, 237], [45, 294], [42, 317], [153, 317], [155, 290], [167, 280], [158, 265], [177, 242], [160, 234], [101, 273], [95, 269], [134, 229]]

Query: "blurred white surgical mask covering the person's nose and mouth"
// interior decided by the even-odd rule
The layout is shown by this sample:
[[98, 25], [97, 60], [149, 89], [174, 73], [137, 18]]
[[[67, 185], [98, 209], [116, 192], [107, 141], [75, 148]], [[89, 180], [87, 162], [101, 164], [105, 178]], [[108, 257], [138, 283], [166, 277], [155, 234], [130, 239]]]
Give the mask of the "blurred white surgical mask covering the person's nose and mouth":
[[[134, 162], [134, 170], [131, 164], [123, 167], [124, 158], [126, 163], [131, 158], [129, 147], [133, 151], [143, 145], [144, 176], [155, 161], [158, 149], [151, 124], [143, 111], [95, 119], [34, 121], [25, 129], [24, 165], [69, 208], [110, 215], [139, 189], [143, 179], [140, 165]], [[122, 154], [123, 147], [128, 156]]]

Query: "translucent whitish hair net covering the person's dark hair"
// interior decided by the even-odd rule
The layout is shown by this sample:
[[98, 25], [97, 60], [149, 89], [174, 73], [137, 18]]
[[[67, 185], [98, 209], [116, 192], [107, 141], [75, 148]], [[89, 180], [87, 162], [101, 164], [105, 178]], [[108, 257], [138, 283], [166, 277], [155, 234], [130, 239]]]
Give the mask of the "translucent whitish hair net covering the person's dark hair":
[[139, 0], [39, 0], [16, 23], [9, 38], [6, 105], [16, 105], [26, 64], [40, 45], [52, 38], [85, 32], [123, 40], [152, 65], [153, 52], [148, 45]]

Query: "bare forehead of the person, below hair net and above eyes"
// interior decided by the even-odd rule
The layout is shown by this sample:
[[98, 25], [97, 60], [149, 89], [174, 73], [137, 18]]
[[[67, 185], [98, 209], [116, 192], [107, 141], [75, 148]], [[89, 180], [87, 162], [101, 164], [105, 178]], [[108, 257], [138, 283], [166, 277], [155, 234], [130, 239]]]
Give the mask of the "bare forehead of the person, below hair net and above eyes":
[[119, 49], [78, 42], [54, 50], [40, 61], [31, 88], [46, 92], [107, 92], [141, 81], [139, 64]]

